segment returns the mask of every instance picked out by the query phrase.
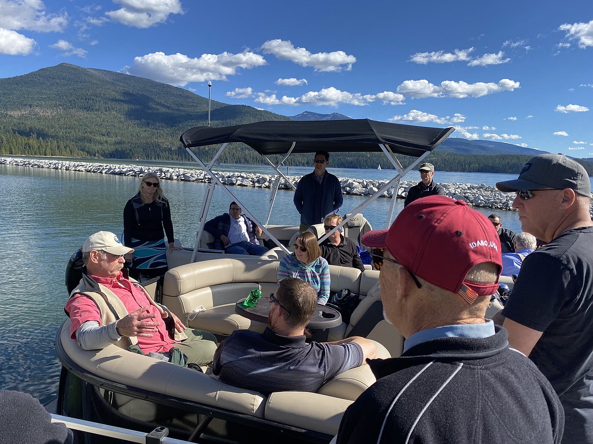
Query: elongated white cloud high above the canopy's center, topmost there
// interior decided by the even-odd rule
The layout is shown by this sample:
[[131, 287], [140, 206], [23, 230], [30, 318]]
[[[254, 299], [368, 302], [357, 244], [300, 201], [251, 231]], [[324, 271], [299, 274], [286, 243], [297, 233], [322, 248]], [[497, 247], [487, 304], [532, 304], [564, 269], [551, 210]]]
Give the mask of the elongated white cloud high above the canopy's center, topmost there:
[[311, 66], [315, 71], [320, 72], [349, 71], [352, 69], [352, 64], [356, 62], [355, 56], [343, 51], [312, 54], [305, 48], [295, 48], [289, 40], [279, 38], [266, 41], [262, 45], [262, 50], [265, 54], [273, 54], [280, 60], [290, 60], [297, 65]]

